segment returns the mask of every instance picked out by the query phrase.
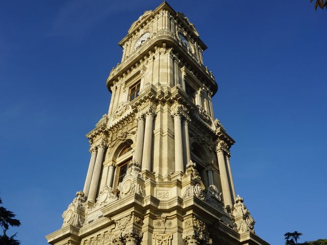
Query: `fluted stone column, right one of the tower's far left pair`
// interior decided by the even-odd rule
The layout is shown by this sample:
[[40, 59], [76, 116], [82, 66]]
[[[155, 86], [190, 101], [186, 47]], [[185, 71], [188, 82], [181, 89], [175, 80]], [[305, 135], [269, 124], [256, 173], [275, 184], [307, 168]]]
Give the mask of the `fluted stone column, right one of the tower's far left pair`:
[[88, 195], [89, 201], [94, 201], [94, 202], [96, 201], [96, 195], [97, 195], [97, 190], [98, 190], [98, 184], [99, 184], [99, 179], [100, 179], [100, 172], [101, 172], [105, 148], [106, 148], [106, 145], [104, 142], [101, 142], [98, 146], [97, 159], [96, 159], [96, 163], [95, 163], [94, 170], [92, 173], [92, 180], [91, 180], [91, 185], [90, 185], [90, 190], [89, 190], [89, 195]]

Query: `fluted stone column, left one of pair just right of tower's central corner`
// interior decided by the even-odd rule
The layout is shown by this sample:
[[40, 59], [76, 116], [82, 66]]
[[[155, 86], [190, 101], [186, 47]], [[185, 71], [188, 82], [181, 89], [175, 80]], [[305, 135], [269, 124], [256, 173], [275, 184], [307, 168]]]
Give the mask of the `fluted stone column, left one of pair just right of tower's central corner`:
[[175, 133], [175, 171], [183, 171], [183, 143], [182, 143], [182, 127], [180, 113], [173, 112], [174, 133]]

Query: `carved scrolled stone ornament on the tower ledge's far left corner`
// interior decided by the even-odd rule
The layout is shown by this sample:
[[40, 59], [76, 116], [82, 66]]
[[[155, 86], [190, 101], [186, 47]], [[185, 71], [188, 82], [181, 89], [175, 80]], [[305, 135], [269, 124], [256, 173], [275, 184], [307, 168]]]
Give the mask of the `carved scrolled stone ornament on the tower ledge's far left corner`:
[[85, 220], [85, 209], [83, 203], [85, 202], [84, 192], [76, 192], [76, 197], [73, 202], [69, 204], [66, 211], [63, 212], [63, 225], [62, 227], [72, 225], [76, 227], [81, 227]]

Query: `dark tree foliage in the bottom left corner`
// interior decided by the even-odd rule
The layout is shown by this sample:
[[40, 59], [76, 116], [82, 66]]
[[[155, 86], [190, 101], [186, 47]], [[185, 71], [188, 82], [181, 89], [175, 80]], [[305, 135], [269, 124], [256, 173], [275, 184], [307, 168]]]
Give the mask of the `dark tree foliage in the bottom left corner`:
[[[2, 199], [0, 197], [0, 204], [2, 204]], [[12, 236], [7, 236], [6, 232], [9, 226], [20, 226], [20, 221], [15, 219], [15, 214], [6, 208], [0, 206], [0, 226], [3, 229], [3, 235], [0, 235], [1, 245], [19, 245], [20, 242], [15, 239], [16, 234]]]

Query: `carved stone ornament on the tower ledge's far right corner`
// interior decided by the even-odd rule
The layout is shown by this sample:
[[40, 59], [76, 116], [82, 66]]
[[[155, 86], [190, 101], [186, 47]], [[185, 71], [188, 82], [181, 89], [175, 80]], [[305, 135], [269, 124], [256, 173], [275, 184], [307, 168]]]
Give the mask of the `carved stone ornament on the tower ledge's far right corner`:
[[236, 229], [239, 233], [254, 232], [255, 221], [250, 212], [243, 204], [244, 199], [239, 195], [235, 199], [233, 215], [235, 217]]

